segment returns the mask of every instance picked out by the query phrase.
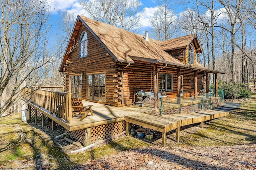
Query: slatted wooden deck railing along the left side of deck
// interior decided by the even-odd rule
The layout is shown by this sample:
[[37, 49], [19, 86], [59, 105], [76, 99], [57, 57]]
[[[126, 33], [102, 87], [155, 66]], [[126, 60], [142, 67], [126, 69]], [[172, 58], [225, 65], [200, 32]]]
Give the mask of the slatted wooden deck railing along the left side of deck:
[[71, 123], [71, 93], [25, 88], [22, 91], [22, 97]]

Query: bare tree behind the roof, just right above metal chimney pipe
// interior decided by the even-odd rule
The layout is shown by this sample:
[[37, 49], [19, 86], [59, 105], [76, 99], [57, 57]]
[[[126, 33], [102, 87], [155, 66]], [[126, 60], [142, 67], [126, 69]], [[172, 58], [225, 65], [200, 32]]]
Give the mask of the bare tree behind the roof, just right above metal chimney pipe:
[[174, 38], [176, 32], [176, 22], [178, 17], [173, 11], [170, 0], [159, 0], [154, 16], [150, 17], [150, 23], [154, 36], [159, 41], [165, 41]]

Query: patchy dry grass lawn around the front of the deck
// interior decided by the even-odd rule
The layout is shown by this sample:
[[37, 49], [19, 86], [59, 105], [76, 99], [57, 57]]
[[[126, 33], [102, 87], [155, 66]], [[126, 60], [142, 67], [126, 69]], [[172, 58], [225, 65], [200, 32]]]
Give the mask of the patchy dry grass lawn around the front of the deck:
[[[253, 97], [228, 116], [206, 122], [204, 129], [200, 125], [183, 127], [179, 144], [175, 142], [175, 133], [169, 133], [167, 146], [232, 146], [256, 143], [256, 95]], [[4, 165], [5, 168], [11, 167], [14, 159], [33, 164], [36, 156], [43, 153], [52, 163], [52, 169], [64, 170], [104, 155], [152, 144], [161, 145], [161, 139], [149, 144], [123, 135], [88, 151], [69, 154], [58, 147], [47, 134], [27, 123], [21, 123], [20, 114], [0, 118], [0, 129], [0, 166]]]

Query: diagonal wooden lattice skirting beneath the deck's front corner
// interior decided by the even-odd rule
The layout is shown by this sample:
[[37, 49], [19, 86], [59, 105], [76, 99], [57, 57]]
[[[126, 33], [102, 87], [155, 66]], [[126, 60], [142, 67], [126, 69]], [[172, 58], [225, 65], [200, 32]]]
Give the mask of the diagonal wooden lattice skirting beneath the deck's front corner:
[[[109, 137], [116, 136], [125, 130], [125, 121], [119, 121], [108, 123], [106, 125], [91, 127], [90, 129], [80, 129], [76, 131], [66, 130], [66, 134], [79, 141], [82, 145], [87, 146], [90, 145], [90, 143], [95, 143]], [[90, 135], [90, 139], [88, 139], [88, 134]], [[87, 139], [90, 141], [87, 141]]]

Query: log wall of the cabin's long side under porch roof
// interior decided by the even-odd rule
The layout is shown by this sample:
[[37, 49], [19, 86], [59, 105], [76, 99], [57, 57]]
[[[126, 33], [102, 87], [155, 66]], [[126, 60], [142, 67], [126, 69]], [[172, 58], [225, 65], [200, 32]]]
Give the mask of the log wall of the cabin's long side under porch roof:
[[[163, 65], [158, 65], [161, 68]], [[131, 105], [134, 102], [134, 93], [140, 89], [144, 92], [150, 91], [151, 85], [151, 63], [146, 63], [142, 61], [136, 61], [131, 64], [128, 68], [124, 69], [124, 106]], [[194, 89], [192, 89], [191, 81], [194, 78], [194, 70], [190, 69], [180, 69], [183, 75], [183, 97], [189, 97], [194, 95]], [[173, 90], [166, 91], [166, 95], [170, 98], [177, 98], [178, 93], [178, 74], [177, 68], [172, 66], [167, 66], [163, 70], [158, 71], [158, 84], [160, 85], [160, 74], [173, 74]], [[197, 73], [198, 80], [198, 93], [202, 90], [202, 78], [204, 72]], [[153, 75], [152, 75], [153, 76]], [[152, 90], [153, 90], [153, 78], [152, 78]], [[159, 91], [161, 88], [159, 86]]]

